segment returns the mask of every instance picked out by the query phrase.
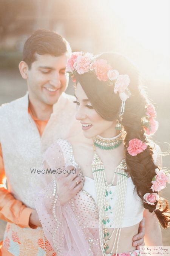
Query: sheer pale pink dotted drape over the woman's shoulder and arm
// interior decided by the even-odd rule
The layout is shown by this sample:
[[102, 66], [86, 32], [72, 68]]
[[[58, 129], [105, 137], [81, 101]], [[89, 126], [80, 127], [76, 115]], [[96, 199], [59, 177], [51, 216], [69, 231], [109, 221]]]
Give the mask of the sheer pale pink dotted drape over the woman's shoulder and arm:
[[[45, 152], [43, 163], [52, 170], [77, 166], [71, 144], [61, 139]], [[40, 192], [34, 203], [45, 236], [57, 255], [101, 256], [98, 211], [94, 199], [82, 189], [70, 201], [60, 205], [56, 194], [57, 175], [60, 174], [39, 175], [41, 185], [37, 189]], [[84, 182], [81, 171], [79, 175]]]

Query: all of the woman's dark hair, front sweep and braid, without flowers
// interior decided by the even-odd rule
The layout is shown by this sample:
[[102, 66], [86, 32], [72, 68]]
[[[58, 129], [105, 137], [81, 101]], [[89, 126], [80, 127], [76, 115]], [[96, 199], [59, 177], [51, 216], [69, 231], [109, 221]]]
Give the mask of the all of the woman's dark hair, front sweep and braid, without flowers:
[[[144, 134], [144, 128], [141, 124], [141, 118], [146, 116], [145, 106], [149, 103], [142, 86], [140, 85], [140, 76], [138, 69], [134, 64], [125, 56], [119, 53], [106, 52], [98, 55], [97, 59], [107, 60], [108, 64], [113, 69], [116, 69], [119, 74], [128, 74], [130, 77], [130, 85], [128, 86], [131, 91], [131, 96], [125, 102], [125, 112], [121, 121], [127, 132], [125, 137], [125, 159], [128, 166], [128, 172], [136, 187], [137, 193], [143, 200], [145, 193], [152, 193], [151, 181], [156, 175], [155, 169], [159, 168], [153, 160], [153, 143], [147, 139]], [[88, 99], [90, 100], [96, 112], [105, 120], [113, 121], [119, 118], [121, 99], [119, 94], [113, 93], [113, 87], [108, 86], [106, 82], [99, 81], [96, 74], [87, 72], [82, 75], [75, 74], [76, 81], [79, 82], [85, 91]], [[136, 156], [128, 153], [128, 143], [131, 139], [138, 138], [147, 143], [147, 149]], [[149, 212], [155, 211], [163, 228], [168, 227], [170, 217], [167, 214], [168, 202], [165, 202], [165, 208], [162, 208], [161, 201], [160, 207], [156, 209], [156, 204], [147, 204], [144, 202], [145, 209]]]

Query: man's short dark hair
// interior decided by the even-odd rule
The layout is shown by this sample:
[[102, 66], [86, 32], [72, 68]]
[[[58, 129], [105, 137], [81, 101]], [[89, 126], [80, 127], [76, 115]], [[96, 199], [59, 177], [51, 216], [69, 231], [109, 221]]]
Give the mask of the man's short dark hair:
[[24, 44], [23, 61], [31, 68], [31, 64], [36, 61], [35, 53], [58, 57], [68, 52], [68, 48], [68, 42], [56, 32], [38, 29]]

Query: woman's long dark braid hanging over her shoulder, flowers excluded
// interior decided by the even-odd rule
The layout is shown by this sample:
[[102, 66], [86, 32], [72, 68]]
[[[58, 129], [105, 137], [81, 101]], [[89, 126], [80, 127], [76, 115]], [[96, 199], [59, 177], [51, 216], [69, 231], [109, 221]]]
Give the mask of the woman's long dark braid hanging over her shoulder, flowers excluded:
[[[132, 99], [130, 104], [126, 105], [122, 120], [122, 124], [124, 125], [125, 131], [127, 132], [125, 137], [126, 162], [130, 171], [131, 179], [136, 186], [136, 191], [141, 199], [143, 199], [145, 193], [152, 193], [151, 181], [156, 175], [155, 169], [160, 168], [160, 166], [156, 166], [154, 163], [153, 146], [145, 136], [145, 131], [141, 124], [141, 118], [145, 116], [145, 105], [147, 103], [148, 102], [146, 101], [145, 97], [142, 96], [142, 94], [139, 95], [138, 101], [134, 99], [133, 102]], [[138, 138], [147, 144], [147, 149], [136, 156], [130, 155], [127, 151], [128, 143], [133, 138]], [[165, 208], [163, 209], [160, 201], [159, 209], [156, 209], [158, 201], [154, 205], [144, 202], [144, 207], [145, 209], [148, 209], [149, 212], [155, 211], [161, 226], [163, 228], [167, 228], [168, 222], [170, 222], [170, 216], [167, 215], [168, 202], [163, 198], [162, 200], [165, 202]]]

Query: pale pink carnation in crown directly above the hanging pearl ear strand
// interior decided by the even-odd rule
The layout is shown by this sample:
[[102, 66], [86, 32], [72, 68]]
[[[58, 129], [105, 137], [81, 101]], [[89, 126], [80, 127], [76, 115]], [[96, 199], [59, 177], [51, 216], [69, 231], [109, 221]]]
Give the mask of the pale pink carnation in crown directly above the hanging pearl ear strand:
[[114, 93], [117, 93], [117, 91], [123, 93], [127, 89], [129, 83], [130, 78], [128, 75], [119, 75], [114, 85]]

